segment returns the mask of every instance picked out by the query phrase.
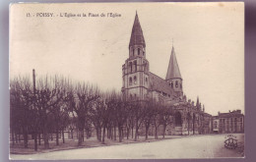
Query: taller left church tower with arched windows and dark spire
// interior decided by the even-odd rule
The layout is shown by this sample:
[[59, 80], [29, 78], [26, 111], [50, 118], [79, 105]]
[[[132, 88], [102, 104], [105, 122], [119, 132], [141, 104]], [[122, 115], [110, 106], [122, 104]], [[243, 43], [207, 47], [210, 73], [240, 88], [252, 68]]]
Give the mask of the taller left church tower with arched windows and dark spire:
[[149, 61], [146, 59], [146, 43], [136, 12], [129, 43], [129, 58], [122, 66], [122, 93], [126, 100], [144, 100], [148, 93]]

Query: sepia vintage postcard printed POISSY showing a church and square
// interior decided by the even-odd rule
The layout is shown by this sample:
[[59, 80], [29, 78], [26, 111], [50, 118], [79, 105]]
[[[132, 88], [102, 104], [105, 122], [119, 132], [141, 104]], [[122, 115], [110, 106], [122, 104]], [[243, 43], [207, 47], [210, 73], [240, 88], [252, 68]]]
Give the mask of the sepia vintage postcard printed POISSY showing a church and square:
[[244, 4], [10, 5], [10, 159], [242, 158]]

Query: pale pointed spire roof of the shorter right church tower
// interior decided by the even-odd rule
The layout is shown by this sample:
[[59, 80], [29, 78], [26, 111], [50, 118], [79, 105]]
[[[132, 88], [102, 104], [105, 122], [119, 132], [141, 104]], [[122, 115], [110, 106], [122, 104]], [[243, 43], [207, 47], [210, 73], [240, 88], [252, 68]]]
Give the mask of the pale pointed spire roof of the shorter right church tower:
[[178, 62], [177, 62], [177, 59], [175, 56], [175, 51], [174, 51], [173, 46], [171, 49], [171, 55], [169, 58], [169, 66], [168, 66], [165, 80], [171, 80], [171, 79], [182, 79], [180, 72], [179, 72]]

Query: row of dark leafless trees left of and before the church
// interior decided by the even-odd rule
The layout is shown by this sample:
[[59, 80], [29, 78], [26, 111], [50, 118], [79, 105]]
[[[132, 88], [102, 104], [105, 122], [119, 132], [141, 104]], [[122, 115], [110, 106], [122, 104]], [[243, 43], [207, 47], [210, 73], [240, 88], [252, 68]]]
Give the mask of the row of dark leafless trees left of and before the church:
[[170, 107], [154, 100], [126, 101], [118, 92], [102, 92], [96, 85], [57, 76], [36, 81], [34, 76], [32, 81], [29, 77], [12, 79], [10, 101], [13, 144], [17, 135], [23, 135], [24, 146], [28, 147], [29, 135], [32, 135], [34, 150], [41, 144], [41, 138], [44, 148], [48, 149], [52, 134], [55, 134], [56, 145], [59, 145], [60, 133], [65, 142], [64, 130], [67, 129], [72, 137], [77, 130], [78, 145], [83, 144], [85, 132], [86, 137], [90, 137], [92, 128], [102, 143], [105, 137], [113, 140], [118, 137], [120, 142], [130, 136], [137, 140], [142, 126], [146, 139], [150, 127], [155, 129], [158, 138], [160, 125], [164, 137], [173, 115]]

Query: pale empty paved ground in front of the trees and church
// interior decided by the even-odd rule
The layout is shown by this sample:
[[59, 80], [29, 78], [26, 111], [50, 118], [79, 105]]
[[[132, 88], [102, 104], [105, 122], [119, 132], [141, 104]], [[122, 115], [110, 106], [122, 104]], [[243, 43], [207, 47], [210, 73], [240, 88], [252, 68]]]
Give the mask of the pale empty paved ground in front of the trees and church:
[[[241, 157], [224, 147], [226, 135], [191, 135], [153, 142], [54, 151], [32, 155], [11, 155], [11, 159], [162, 159]], [[243, 135], [236, 135], [243, 140]]]

